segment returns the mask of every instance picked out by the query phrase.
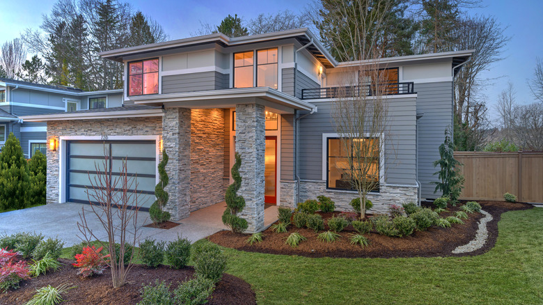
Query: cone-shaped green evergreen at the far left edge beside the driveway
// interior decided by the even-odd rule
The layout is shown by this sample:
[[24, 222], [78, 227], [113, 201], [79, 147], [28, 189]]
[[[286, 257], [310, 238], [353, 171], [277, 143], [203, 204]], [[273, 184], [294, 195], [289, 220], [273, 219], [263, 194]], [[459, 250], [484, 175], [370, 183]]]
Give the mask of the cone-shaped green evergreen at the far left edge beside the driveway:
[[10, 132], [0, 153], [0, 209], [26, 208], [29, 189], [29, 165], [19, 139]]

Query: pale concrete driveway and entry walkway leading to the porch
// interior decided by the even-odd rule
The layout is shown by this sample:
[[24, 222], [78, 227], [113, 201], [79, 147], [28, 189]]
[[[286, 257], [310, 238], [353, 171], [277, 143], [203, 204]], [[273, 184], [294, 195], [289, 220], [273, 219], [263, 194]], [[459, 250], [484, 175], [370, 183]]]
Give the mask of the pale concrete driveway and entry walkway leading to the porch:
[[[181, 236], [191, 242], [196, 242], [220, 230], [227, 229], [221, 220], [225, 208], [226, 203], [222, 202], [191, 212], [190, 217], [182, 219], [179, 226], [169, 230], [144, 227], [144, 225], [151, 223], [149, 213], [139, 212], [139, 240], [143, 241], [146, 237], [150, 237], [154, 240], [169, 242]], [[88, 225], [98, 239], [107, 240], [107, 234], [96, 215], [91, 211], [90, 205], [81, 203], [57, 203], [0, 213], [0, 234], [36, 232], [41, 233], [45, 238], [58, 238], [65, 243], [64, 247], [70, 247], [81, 242], [79, 237], [83, 237], [77, 227], [77, 223], [81, 221], [79, 218], [81, 209], [85, 210]], [[267, 205], [265, 226], [271, 225], [276, 220], [277, 207]]]

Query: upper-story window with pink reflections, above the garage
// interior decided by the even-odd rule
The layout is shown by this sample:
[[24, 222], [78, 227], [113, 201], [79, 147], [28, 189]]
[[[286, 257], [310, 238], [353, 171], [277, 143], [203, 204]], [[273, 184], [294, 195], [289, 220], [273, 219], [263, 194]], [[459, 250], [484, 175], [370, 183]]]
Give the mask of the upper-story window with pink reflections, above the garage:
[[128, 95], [158, 93], [158, 58], [128, 63]]

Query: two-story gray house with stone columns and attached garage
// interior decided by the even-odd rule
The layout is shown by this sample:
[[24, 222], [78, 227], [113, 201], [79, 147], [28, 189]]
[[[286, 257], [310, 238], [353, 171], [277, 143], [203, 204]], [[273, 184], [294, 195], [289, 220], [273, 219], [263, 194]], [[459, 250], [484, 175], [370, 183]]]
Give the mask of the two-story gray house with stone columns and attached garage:
[[[370, 193], [374, 211], [436, 197], [432, 162], [453, 124], [453, 78], [471, 53], [379, 61], [398, 89], [386, 96], [390, 134], [375, 162], [387, 170]], [[242, 157], [238, 194], [249, 232], [262, 228], [265, 203], [295, 207], [325, 195], [349, 210], [356, 192], [341, 174], [329, 88], [364, 63], [338, 63], [308, 29], [239, 38], [215, 33], [101, 56], [125, 66], [122, 107], [23, 117], [47, 122], [48, 202], [88, 203], [89, 175], [105, 144], [113, 171], [126, 158], [129, 173], [137, 173], [143, 208], [155, 200], [166, 150], [166, 210], [175, 220], [224, 200], [235, 152]]]

